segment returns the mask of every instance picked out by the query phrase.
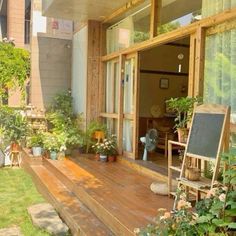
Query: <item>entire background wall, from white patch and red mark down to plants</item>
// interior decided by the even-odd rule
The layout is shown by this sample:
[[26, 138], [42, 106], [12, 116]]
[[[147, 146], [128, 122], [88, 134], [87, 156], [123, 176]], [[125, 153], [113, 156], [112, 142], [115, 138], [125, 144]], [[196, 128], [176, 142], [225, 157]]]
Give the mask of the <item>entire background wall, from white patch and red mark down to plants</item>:
[[71, 21], [42, 16], [42, 1], [33, 0], [30, 103], [46, 109], [53, 97], [71, 89]]

